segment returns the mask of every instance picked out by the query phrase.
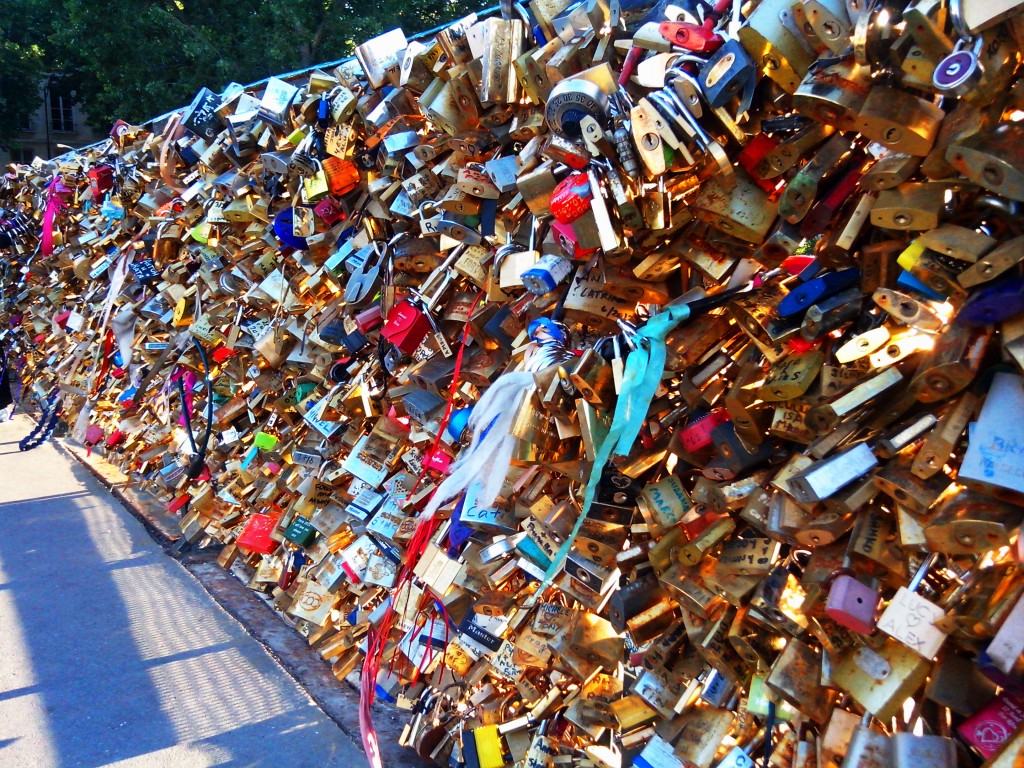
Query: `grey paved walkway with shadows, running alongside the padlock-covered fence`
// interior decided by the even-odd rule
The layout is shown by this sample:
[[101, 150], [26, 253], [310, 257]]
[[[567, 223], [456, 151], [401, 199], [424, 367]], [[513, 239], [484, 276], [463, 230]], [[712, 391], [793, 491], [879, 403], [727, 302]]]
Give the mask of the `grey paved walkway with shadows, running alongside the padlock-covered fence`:
[[0, 767], [365, 765], [84, 467], [18, 452], [32, 426], [0, 424]]

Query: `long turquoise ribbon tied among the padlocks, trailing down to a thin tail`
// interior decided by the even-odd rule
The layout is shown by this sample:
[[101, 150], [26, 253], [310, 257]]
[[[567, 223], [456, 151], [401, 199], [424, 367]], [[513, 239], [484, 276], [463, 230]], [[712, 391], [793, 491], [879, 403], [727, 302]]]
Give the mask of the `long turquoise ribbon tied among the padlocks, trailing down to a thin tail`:
[[601, 475], [604, 474], [608, 460], [612, 454], [625, 456], [636, 442], [643, 428], [644, 419], [647, 418], [647, 409], [650, 408], [654, 392], [657, 391], [657, 386], [665, 375], [665, 360], [668, 356], [665, 340], [673, 329], [686, 322], [689, 316], [690, 308], [685, 304], [669, 307], [666, 311], [655, 314], [637, 331], [637, 346], [626, 358], [626, 370], [623, 373], [623, 384], [618, 391], [618, 399], [615, 401], [611, 427], [604, 439], [595, 447], [594, 467], [587, 481], [580, 517], [572, 526], [572, 532], [548, 566], [544, 574], [544, 584], [534, 593], [538, 597], [554, 581], [562, 563], [565, 562], [577, 534], [580, 532], [594, 504], [597, 486], [601, 482]]

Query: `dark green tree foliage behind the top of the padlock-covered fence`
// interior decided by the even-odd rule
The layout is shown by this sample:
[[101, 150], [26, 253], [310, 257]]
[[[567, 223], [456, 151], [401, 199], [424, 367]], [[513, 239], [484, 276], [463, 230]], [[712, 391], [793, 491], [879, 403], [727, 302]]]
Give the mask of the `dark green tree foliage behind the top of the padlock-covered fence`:
[[47, 72], [60, 73], [106, 128], [222, 89], [322, 61], [394, 27], [407, 34], [472, 10], [480, 0], [4, 0], [0, 19], [0, 145], [38, 106]]

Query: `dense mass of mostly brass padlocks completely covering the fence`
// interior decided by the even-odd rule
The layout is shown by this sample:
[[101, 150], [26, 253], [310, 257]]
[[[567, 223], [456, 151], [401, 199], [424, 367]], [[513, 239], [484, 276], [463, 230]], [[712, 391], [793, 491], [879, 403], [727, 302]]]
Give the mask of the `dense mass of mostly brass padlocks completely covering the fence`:
[[27, 391], [425, 760], [1009, 766], [1016, 5], [563, 5], [12, 166]]

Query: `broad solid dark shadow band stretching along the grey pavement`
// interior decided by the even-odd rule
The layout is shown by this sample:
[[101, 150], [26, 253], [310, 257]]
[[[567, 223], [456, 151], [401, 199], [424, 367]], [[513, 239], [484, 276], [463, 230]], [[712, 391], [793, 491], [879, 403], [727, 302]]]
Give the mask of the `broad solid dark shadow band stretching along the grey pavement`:
[[88, 499], [80, 492], [0, 504], [0, 562], [15, 584], [9, 594], [34, 692], [59, 765], [83, 768], [177, 741], [90, 536]]

